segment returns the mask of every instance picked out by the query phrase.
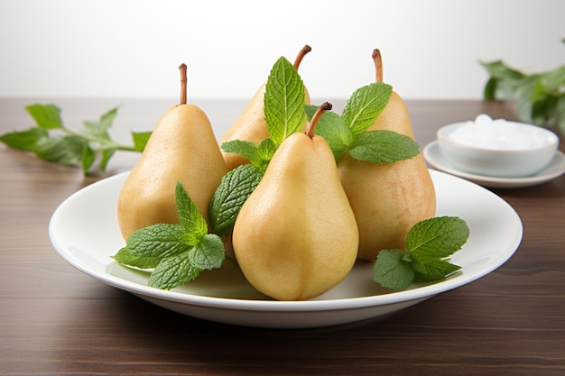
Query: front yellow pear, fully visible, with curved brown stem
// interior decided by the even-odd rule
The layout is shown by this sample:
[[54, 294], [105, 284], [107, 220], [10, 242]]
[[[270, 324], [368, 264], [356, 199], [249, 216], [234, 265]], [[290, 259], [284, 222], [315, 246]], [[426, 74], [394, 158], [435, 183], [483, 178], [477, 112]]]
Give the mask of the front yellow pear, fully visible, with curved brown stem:
[[357, 259], [355, 216], [328, 143], [307, 133], [279, 146], [236, 218], [236, 261], [255, 289], [278, 300], [314, 298], [332, 289]]

